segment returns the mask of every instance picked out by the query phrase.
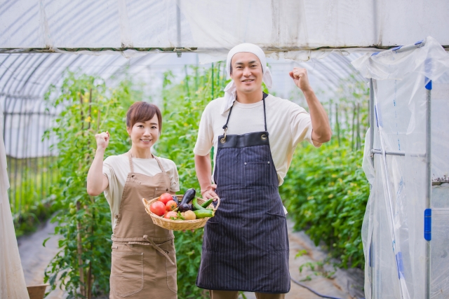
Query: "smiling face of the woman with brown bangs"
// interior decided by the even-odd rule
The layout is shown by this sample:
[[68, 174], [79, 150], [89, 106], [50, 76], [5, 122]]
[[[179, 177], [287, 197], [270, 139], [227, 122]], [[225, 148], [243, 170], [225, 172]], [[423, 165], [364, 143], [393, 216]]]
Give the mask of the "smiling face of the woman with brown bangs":
[[142, 150], [150, 149], [159, 139], [159, 122], [156, 114], [145, 123], [135, 123], [126, 130], [133, 141], [133, 146]]

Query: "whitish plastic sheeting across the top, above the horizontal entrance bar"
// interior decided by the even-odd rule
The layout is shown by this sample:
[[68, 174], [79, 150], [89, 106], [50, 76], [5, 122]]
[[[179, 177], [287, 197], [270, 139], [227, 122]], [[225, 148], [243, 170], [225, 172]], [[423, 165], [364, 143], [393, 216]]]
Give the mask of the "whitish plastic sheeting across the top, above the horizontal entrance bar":
[[220, 55], [249, 42], [307, 60], [321, 55], [310, 49], [391, 47], [427, 35], [449, 45], [448, 12], [446, 0], [3, 0], [0, 48]]

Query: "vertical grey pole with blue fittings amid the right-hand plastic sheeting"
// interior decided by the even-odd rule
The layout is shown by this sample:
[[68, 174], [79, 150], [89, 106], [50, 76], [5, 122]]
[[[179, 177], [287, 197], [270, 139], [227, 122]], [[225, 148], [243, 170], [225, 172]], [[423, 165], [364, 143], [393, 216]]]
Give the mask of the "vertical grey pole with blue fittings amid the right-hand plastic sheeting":
[[[426, 209], [431, 209], [431, 89], [432, 82], [426, 85]], [[431, 291], [431, 237], [426, 239], [426, 288], [424, 296], [430, 299]]]

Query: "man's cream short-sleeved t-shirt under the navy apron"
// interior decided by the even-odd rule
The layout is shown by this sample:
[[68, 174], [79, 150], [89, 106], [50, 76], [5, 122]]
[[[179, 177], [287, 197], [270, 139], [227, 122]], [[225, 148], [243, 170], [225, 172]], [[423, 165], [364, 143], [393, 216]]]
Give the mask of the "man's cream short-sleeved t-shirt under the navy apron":
[[[199, 123], [198, 139], [194, 148], [195, 155], [208, 155], [210, 148], [217, 148], [218, 136], [222, 135], [229, 110], [220, 114], [220, 108], [225, 98], [220, 97], [210, 102], [203, 111]], [[297, 144], [303, 140], [309, 141], [314, 146], [320, 143], [311, 140], [310, 115], [301, 106], [268, 95], [265, 99], [267, 112], [267, 131], [269, 133], [269, 146], [276, 172], [278, 174], [279, 186], [283, 183], [288, 167], [292, 162], [293, 153]], [[264, 131], [264, 107], [262, 100], [254, 104], [241, 104], [234, 102], [231, 117], [227, 125], [227, 134], [246, 134], [250, 132]], [[217, 151], [214, 151], [213, 163]]]

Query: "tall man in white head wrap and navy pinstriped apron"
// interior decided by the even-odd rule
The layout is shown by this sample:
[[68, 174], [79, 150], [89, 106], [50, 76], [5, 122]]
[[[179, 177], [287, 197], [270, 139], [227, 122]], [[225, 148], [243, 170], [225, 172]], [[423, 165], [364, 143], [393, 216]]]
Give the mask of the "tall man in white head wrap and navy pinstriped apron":
[[[243, 43], [227, 57], [232, 81], [225, 97], [206, 106], [194, 148], [201, 195], [220, 197], [220, 208], [204, 230], [196, 285], [212, 299], [235, 299], [238, 291], [258, 299], [284, 298], [290, 291], [286, 210], [278, 187], [295, 147], [330, 140], [326, 111], [309, 85], [307, 71], [290, 77], [302, 90], [309, 113], [262, 92], [272, 78], [261, 48]], [[215, 148], [211, 181], [210, 148]]]

